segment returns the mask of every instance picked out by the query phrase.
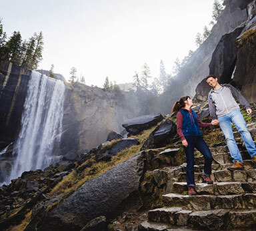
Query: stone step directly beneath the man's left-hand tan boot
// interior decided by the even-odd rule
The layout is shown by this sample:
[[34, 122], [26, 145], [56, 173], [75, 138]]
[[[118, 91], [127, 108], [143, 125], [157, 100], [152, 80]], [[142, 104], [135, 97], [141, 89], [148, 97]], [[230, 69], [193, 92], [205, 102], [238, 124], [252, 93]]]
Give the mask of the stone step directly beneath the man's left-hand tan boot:
[[[229, 170], [213, 170], [211, 173], [211, 179], [214, 182], [253, 182], [256, 180], [256, 169], [251, 168], [251, 165], [254, 166], [251, 160], [248, 160], [248, 163], [245, 164], [245, 170], [235, 170], [233, 172]], [[228, 164], [223, 166], [223, 168], [230, 166], [231, 164]], [[249, 168], [250, 166], [250, 168]], [[246, 170], [247, 169], [247, 170]], [[186, 173], [185, 172], [179, 172], [177, 175], [175, 182], [186, 182]], [[202, 172], [195, 172], [195, 182], [196, 183], [202, 183], [203, 182], [203, 171]]]

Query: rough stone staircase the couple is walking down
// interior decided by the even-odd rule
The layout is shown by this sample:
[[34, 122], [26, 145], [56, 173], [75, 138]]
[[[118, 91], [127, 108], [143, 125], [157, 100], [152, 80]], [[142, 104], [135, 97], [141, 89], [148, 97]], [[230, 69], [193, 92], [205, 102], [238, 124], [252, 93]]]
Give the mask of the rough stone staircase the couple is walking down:
[[[255, 116], [247, 126], [255, 140]], [[210, 147], [213, 184], [203, 182], [204, 159], [195, 153], [195, 196], [187, 194], [185, 163], [158, 170], [168, 176], [167, 194], [162, 196], [165, 207], [149, 210], [147, 221], [141, 222], [138, 230], [255, 230], [256, 166], [239, 132], [234, 130], [234, 134], [245, 170], [227, 170], [233, 162], [225, 142]]]

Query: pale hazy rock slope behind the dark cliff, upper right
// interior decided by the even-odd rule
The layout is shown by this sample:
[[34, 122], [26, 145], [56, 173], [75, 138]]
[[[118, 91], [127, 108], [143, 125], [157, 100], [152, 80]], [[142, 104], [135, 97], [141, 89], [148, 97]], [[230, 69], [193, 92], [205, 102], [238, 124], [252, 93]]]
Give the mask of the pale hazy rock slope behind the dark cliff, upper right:
[[[249, 1], [247, 1], [249, 2]], [[186, 79], [183, 92], [185, 95], [195, 96], [197, 85], [209, 75], [209, 63], [215, 47], [221, 37], [234, 31], [241, 23], [247, 20], [247, 8], [243, 0], [224, 1], [225, 9], [219, 15], [217, 23], [211, 29], [211, 34], [205, 42], [193, 53], [191, 59], [185, 65], [187, 71], [181, 76]], [[182, 93], [182, 95], [184, 95]]]

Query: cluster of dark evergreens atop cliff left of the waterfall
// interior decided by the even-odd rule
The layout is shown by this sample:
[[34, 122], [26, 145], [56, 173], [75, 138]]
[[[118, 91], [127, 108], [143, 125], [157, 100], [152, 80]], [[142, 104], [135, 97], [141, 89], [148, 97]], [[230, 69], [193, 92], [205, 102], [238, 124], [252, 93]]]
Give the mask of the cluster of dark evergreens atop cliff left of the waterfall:
[[29, 39], [22, 40], [21, 33], [14, 31], [11, 37], [3, 30], [3, 19], [0, 19], [0, 57], [15, 65], [27, 69], [37, 69], [43, 59], [43, 33], [34, 33]]

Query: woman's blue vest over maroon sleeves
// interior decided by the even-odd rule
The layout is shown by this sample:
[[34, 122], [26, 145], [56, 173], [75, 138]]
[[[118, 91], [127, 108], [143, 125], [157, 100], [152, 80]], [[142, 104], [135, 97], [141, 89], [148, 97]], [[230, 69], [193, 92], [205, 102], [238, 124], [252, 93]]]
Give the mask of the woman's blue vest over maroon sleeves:
[[183, 115], [182, 132], [184, 136], [201, 136], [202, 133], [195, 112], [192, 110], [192, 115], [189, 115], [189, 111], [186, 109], [181, 109], [180, 112]]

